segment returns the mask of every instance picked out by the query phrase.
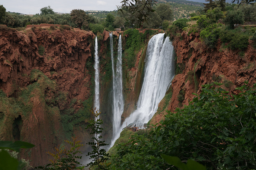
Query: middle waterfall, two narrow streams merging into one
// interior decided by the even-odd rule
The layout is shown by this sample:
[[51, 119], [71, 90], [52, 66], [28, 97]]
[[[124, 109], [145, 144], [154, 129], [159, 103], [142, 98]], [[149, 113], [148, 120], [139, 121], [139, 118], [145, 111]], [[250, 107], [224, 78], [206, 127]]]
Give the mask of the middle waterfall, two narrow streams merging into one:
[[122, 37], [119, 35], [118, 41], [118, 57], [116, 62], [116, 71], [114, 68], [114, 55], [113, 55], [113, 36], [110, 34], [110, 47], [111, 47], [111, 61], [113, 72], [113, 106], [112, 106], [112, 122], [113, 122], [113, 136], [118, 133], [121, 126], [121, 115], [124, 111], [124, 97], [123, 97], [123, 84], [122, 84]]

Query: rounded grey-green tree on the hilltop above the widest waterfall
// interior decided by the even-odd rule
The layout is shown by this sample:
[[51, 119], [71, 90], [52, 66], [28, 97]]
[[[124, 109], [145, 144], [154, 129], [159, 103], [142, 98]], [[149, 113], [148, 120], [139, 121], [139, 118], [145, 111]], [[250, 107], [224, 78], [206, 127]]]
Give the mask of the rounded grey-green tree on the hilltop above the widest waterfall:
[[158, 6], [156, 6], [156, 13], [162, 21], [173, 20], [172, 6], [170, 4], [158, 4]]

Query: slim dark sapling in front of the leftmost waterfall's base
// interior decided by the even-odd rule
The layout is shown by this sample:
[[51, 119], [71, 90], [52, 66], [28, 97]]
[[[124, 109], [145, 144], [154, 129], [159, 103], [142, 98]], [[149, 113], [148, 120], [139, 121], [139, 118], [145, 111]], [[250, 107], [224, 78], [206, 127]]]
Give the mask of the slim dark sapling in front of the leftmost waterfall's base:
[[90, 159], [93, 159], [92, 162], [87, 164], [87, 166], [94, 166], [96, 165], [96, 169], [102, 170], [106, 169], [106, 161], [108, 160], [108, 153], [105, 149], [102, 149], [102, 147], [108, 145], [105, 143], [105, 141], [102, 141], [102, 136], [100, 135], [102, 133], [103, 128], [100, 127], [100, 125], [103, 123], [102, 119], [99, 119], [98, 116], [100, 113], [98, 113], [97, 110], [92, 111], [94, 118], [90, 119], [89, 124], [87, 125], [86, 129], [91, 129], [90, 135], [94, 135], [92, 137], [93, 142], [87, 143], [88, 145], [92, 146], [92, 151], [88, 152], [86, 156], [90, 156]]

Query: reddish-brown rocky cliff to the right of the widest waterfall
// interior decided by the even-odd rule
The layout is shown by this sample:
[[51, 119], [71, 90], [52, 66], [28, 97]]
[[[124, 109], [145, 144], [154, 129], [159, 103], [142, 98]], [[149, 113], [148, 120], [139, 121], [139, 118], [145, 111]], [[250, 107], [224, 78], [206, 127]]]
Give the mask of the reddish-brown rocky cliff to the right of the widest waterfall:
[[251, 43], [241, 55], [240, 51], [224, 48], [220, 41], [216, 48], [210, 49], [200, 41], [198, 34], [182, 32], [173, 40], [178, 72], [151, 123], [163, 119], [165, 110], [174, 111], [176, 107], [188, 105], [194, 98], [192, 93], [200, 93], [204, 84], [222, 82], [222, 88], [231, 93], [236, 93], [235, 88], [245, 80], [251, 86], [255, 84], [256, 49]]

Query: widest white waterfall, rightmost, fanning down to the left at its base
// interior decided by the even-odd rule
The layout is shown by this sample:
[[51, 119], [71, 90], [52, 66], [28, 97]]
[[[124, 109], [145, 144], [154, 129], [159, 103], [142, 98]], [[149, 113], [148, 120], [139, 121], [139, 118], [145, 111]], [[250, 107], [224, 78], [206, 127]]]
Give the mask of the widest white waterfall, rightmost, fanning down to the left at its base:
[[174, 78], [174, 68], [173, 46], [169, 37], [164, 39], [164, 33], [154, 35], [148, 42], [144, 80], [137, 109], [126, 118], [119, 128], [111, 147], [120, 136], [122, 129], [126, 127], [126, 123], [127, 125], [136, 124], [137, 127], [143, 126], [153, 117], [159, 102], [164, 98], [172, 78]]

